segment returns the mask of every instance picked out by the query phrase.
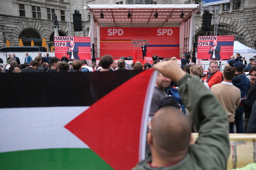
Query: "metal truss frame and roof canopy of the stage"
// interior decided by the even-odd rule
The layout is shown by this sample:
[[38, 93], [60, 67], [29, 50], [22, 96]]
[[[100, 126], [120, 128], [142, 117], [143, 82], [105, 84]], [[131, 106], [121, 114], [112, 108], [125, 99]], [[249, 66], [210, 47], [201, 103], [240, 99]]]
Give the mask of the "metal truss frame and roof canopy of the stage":
[[[195, 14], [200, 9], [218, 9], [202, 7], [198, 4], [157, 4], [157, 5], [87, 5], [87, 7], [67, 7], [68, 36], [71, 36], [70, 10], [90, 11], [90, 36], [92, 44], [97, 47], [96, 26], [99, 27], [180, 27], [192, 17], [192, 43], [195, 41]], [[102, 14], [101, 14], [102, 13]], [[128, 18], [128, 13], [131, 17]], [[156, 17], [157, 13], [157, 17]], [[182, 14], [182, 15], [181, 15]], [[218, 19], [215, 14], [215, 19]], [[215, 21], [217, 24], [217, 20]], [[185, 25], [186, 26], [186, 25]], [[187, 26], [188, 27], [188, 26]], [[215, 27], [214, 27], [215, 29]], [[216, 26], [217, 30], [217, 26]], [[189, 31], [189, 29], [188, 29]], [[215, 31], [214, 31], [215, 32]], [[216, 31], [217, 32], [217, 31]], [[217, 34], [217, 33], [216, 33]], [[189, 35], [185, 38], [189, 39]], [[188, 47], [186, 40], [186, 47]], [[93, 49], [93, 48], [92, 48]], [[97, 53], [97, 49], [95, 49]], [[98, 55], [95, 55], [96, 58]]]

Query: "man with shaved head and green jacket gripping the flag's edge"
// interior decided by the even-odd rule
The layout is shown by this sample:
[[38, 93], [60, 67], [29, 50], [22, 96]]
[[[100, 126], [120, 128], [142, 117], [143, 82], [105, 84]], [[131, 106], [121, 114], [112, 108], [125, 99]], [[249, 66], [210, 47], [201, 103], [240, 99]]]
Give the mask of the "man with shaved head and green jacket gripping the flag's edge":
[[174, 61], [157, 63], [153, 68], [177, 82], [199, 137], [191, 144], [191, 127], [185, 115], [177, 108], [163, 107], [154, 115], [152, 128], [149, 125], [147, 141], [152, 157], [133, 170], [226, 169], [228, 119], [220, 102], [197, 77], [186, 74]]

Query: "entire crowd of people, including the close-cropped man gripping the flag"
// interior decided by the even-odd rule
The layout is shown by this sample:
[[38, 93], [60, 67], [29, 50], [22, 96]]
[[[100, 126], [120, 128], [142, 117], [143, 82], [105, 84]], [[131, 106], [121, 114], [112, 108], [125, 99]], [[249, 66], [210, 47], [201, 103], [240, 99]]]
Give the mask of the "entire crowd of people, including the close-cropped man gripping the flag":
[[[240, 54], [231, 56], [223, 71], [213, 60], [210, 71], [203, 75], [201, 66], [187, 62], [187, 55], [183, 55], [186, 63], [181, 67], [175, 57], [160, 62], [153, 55], [153, 64], [146, 63], [143, 68], [140, 62], [129, 65], [124, 57], [116, 61], [111, 55], [103, 55], [98, 66], [95, 62], [89, 66], [86, 60], [68, 63], [66, 55], [60, 60], [49, 54], [42, 57], [41, 53], [34, 60], [26, 53], [24, 64], [20, 64], [13, 54], [7, 58], [5, 72], [101, 72], [153, 67], [159, 73], [148, 119], [146, 159], [134, 170], [226, 169], [228, 133], [256, 133], [256, 56], [246, 67]], [[196, 143], [191, 132], [199, 133]]]

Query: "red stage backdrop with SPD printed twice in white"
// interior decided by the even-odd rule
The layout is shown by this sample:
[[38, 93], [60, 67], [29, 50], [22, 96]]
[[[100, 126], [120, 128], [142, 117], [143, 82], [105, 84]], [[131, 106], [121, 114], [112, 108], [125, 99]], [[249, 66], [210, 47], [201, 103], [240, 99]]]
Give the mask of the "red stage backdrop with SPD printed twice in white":
[[141, 45], [145, 42], [148, 57], [178, 57], [179, 38], [179, 27], [100, 27], [100, 55], [127, 57], [138, 51], [138, 57], [142, 57]]

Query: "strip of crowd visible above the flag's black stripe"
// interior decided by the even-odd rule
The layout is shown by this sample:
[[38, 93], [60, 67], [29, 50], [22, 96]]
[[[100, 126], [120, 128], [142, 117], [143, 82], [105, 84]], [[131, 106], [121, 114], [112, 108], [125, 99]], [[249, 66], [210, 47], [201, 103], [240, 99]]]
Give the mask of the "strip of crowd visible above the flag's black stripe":
[[[13, 55], [13, 56], [12, 56]], [[83, 60], [72, 60], [70, 62], [64, 54], [61, 59], [57, 57], [51, 57], [48, 53], [46, 56], [38, 56], [32, 60], [32, 57], [26, 52], [26, 57], [23, 64], [20, 64], [19, 57], [15, 54], [9, 54], [6, 59], [6, 65], [0, 63], [0, 73], [26, 73], [26, 72], [98, 72], [98, 71], [116, 71], [116, 70], [144, 70], [151, 68], [151, 64], [146, 63], [143, 68], [142, 63], [137, 61], [136, 63], [127, 64], [125, 58], [121, 57], [118, 61], [113, 60], [111, 55], [104, 55], [101, 57], [100, 62], [96, 65], [96, 62], [92, 62], [89, 66], [85, 59]], [[3, 60], [2, 60], [3, 61]], [[80, 63], [81, 64], [80, 64]], [[111, 64], [109, 64], [111, 62]]]

